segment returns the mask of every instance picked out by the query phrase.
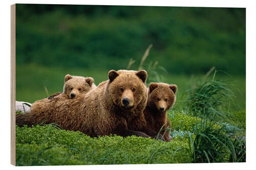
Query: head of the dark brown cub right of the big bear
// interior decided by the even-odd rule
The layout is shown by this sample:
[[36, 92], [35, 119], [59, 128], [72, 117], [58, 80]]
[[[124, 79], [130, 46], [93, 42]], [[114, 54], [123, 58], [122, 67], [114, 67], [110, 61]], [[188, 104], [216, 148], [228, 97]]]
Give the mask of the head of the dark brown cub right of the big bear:
[[147, 106], [163, 113], [173, 107], [177, 91], [174, 84], [151, 83], [148, 87]]

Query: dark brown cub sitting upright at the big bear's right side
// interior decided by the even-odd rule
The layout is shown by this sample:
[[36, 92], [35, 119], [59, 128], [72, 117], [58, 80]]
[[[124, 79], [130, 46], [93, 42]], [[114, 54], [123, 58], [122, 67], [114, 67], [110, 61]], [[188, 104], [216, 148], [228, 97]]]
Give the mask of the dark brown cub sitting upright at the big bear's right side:
[[147, 105], [143, 111], [147, 128], [159, 132], [163, 135], [165, 141], [169, 139], [170, 122], [167, 117], [167, 111], [173, 107], [177, 91], [177, 86], [165, 83], [151, 83], [148, 87]]

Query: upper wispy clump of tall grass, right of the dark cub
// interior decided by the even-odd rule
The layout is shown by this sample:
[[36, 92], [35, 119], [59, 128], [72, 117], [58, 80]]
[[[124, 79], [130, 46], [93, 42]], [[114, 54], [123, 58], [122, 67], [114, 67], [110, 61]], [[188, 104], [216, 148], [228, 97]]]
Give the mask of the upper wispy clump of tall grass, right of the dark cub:
[[187, 106], [193, 115], [212, 119], [226, 118], [234, 93], [227, 81], [216, 79], [216, 72], [217, 70], [211, 80], [205, 78], [202, 83], [187, 90], [189, 92]]

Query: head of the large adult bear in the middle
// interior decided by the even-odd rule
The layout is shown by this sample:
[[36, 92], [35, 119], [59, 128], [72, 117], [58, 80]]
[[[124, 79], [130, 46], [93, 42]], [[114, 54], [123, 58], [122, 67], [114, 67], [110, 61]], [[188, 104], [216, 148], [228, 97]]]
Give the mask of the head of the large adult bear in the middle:
[[146, 104], [146, 78], [145, 70], [109, 71], [109, 90], [114, 104], [126, 110], [135, 109], [141, 102]]

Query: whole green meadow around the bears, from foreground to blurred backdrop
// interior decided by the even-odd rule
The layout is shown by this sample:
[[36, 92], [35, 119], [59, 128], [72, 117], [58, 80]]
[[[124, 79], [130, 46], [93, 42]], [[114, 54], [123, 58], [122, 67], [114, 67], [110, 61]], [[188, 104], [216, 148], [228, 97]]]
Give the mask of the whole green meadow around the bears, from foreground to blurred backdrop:
[[178, 92], [170, 142], [16, 127], [16, 164], [245, 162], [245, 61], [245, 8], [17, 4], [16, 101], [127, 67]]

